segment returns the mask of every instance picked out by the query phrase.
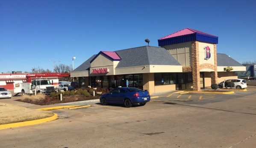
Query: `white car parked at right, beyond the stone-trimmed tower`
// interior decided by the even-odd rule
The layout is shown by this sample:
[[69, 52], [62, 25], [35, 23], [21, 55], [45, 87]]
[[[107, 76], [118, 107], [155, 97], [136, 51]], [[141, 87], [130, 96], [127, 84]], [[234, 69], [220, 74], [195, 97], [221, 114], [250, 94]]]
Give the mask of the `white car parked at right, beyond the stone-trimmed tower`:
[[230, 87], [227, 87], [227, 84], [229, 82], [234, 82], [235, 86], [233, 88], [236, 88], [236, 89], [247, 88], [246, 81], [241, 78], [233, 78], [233, 79], [224, 80], [221, 83], [219, 83], [218, 86], [219, 86], [219, 88], [224, 88], [224, 87], [230, 88]]

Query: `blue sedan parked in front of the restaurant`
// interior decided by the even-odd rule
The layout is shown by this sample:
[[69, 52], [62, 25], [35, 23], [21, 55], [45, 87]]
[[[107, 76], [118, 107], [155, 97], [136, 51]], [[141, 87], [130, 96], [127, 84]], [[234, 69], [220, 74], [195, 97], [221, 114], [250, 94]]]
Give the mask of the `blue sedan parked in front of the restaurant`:
[[150, 101], [150, 95], [147, 90], [141, 90], [135, 87], [117, 87], [109, 93], [100, 96], [100, 103], [124, 104], [125, 107], [132, 107], [132, 104], [145, 105]]

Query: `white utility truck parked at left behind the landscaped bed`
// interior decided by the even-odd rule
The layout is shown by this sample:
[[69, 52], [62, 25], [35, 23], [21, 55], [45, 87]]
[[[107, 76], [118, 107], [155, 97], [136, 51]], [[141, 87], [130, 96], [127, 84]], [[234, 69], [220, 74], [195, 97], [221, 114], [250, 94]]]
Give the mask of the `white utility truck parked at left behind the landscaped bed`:
[[51, 84], [50, 80], [32, 80], [31, 83], [18, 83], [14, 86], [14, 93], [22, 95], [42, 93], [49, 95], [51, 92], [56, 92], [56, 87]]

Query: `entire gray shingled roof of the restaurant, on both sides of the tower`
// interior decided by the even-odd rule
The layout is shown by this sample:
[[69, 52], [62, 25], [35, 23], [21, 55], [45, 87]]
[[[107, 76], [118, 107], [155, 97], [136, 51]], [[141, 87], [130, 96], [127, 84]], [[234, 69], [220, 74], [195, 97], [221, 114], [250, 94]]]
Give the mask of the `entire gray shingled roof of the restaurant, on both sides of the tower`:
[[[165, 48], [162, 47], [141, 46], [131, 49], [118, 50], [115, 52], [121, 57], [121, 61], [118, 63], [116, 68], [137, 67], [144, 65], [181, 65]], [[90, 70], [90, 61], [95, 56], [96, 55], [91, 56], [91, 58], [73, 70], [73, 72]], [[243, 66], [223, 53], [217, 53], [217, 62], [218, 66]]]

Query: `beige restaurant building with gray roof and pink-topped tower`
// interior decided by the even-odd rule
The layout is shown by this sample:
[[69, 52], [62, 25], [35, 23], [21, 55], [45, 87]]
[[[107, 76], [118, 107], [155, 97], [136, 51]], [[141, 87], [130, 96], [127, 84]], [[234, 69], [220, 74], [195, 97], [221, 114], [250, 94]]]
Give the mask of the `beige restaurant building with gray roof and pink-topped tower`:
[[141, 46], [100, 51], [71, 72], [79, 87], [138, 87], [150, 93], [201, 90], [245, 67], [217, 53], [218, 37], [185, 28], [158, 40], [159, 47]]

